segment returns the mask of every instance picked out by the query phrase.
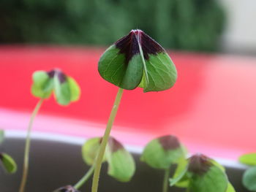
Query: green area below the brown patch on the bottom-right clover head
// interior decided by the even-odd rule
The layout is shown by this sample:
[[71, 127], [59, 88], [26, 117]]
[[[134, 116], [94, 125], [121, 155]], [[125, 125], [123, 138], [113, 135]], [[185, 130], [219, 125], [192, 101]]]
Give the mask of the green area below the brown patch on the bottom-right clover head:
[[218, 166], [210, 166], [204, 174], [192, 174], [189, 190], [195, 192], [226, 192], [228, 180]]

